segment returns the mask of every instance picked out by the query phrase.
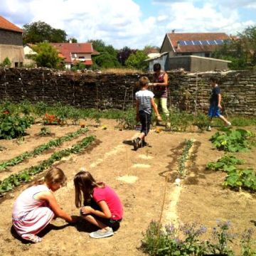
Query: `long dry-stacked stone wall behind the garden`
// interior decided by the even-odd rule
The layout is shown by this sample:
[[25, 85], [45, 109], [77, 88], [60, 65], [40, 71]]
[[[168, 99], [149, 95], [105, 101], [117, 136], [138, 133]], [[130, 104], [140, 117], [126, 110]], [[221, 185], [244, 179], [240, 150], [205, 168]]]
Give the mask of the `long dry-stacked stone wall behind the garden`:
[[[228, 114], [256, 115], [256, 73], [186, 74], [169, 72], [171, 107], [188, 112], [208, 109], [210, 76], [217, 76]], [[151, 74], [143, 74], [151, 78]], [[83, 108], [127, 109], [135, 103], [136, 82], [142, 74], [63, 73], [49, 69], [0, 69], [0, 100], [63, 102]]]

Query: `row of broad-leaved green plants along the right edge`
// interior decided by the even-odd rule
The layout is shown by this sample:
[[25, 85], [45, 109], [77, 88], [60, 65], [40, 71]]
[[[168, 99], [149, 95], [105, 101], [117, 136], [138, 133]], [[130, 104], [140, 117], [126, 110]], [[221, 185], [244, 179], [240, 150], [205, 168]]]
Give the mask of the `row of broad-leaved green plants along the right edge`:
[[[217, 149], [225, 152], [241, 152], [248, 151], [252, 146], [249, 140], [253, 137], [252, 132], [245, 129], [223, 129], [223, 132], [216, 132], [210, 141], [213, 142]], [[234, 189], [245, 189], [248, 191], [256, 191], [256, 174], [252, 168], [242, 169], [238, 165], [245, 164], [245, 161], [237, 159], [233, 155], [225, 154], [216, 162], [209, 162], [206, 165], [207, 169], [214, 171], [224, 171], [225, 177], [224, 186]]]

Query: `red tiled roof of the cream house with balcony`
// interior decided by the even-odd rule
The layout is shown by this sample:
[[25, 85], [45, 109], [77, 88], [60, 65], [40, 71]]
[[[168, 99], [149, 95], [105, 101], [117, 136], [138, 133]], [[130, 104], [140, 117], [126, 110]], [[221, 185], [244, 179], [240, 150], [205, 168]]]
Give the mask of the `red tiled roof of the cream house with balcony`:
[[61, 53], [66, 63], [72, 63], [72, 53], [94, 53], [92, 43], [50, 43]]

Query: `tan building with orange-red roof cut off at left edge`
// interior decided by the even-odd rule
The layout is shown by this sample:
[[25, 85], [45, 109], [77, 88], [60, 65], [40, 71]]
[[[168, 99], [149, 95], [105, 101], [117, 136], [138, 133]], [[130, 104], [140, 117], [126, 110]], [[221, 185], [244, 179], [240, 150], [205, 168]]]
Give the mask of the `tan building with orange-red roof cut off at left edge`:
[[22, 44], [23, 30], [6, 18], [0, 16], [0, 63], [6, 57], [11, 61], [11, 67], [20, 67], [24, 61]]

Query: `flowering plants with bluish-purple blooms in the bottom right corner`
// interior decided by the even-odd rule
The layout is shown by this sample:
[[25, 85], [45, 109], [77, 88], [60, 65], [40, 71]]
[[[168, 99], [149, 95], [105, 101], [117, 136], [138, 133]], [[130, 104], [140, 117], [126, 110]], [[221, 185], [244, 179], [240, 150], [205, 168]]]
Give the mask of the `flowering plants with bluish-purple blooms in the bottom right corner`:
[[152, 221], [143, 235], [142, 251], [152, 256], [206, 256], [235, 255], [231, 245], [235, 240], [240, 243], [241, 256], [256, 255], [256, 243], [252, 239], [253, 230], [247, 229], [239, 235], [230, 231], [231, 223], [218, 221], [210, 233], [210, 239], [200, 238], [207, 233], [207, 228], [196, 223], [175, 227], [161, 225]]

